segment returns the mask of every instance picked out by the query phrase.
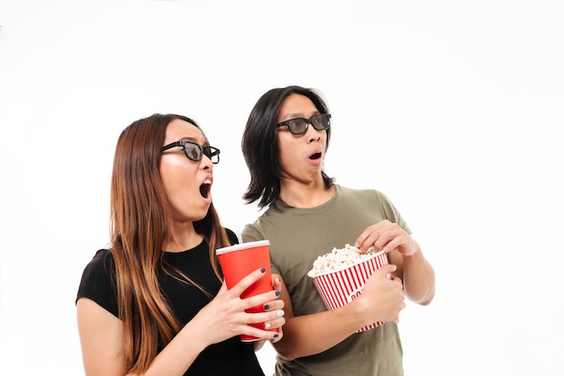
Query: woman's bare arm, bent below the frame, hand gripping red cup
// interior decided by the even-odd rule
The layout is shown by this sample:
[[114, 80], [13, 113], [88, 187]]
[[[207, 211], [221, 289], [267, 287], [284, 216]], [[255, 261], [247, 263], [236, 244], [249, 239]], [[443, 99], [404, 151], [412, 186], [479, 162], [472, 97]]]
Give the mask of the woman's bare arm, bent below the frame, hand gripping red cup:
[[[208, 345], [232, 336], [246, 334], [271, 339], [276, 333], [250, 327], [247, 324], [268, 321], [281, 327], [285, 319], [278, 317], [283, 308], [276, 291], [241, 300], [240, 295], [263, 275], [260, 270], [250, 273], [227, 290], [225, 283], [209, 304], [183, 327], [172, 341], [155, 357], [145, 375], [183, 375]], [[245, 309], [269, 304], [268, 312], [246, 313]], [[110, 312], [93, 300], [77, 301], [77, 323], [87, 376], [123, 376], [128, 371], [123, 353], [123, 325]]]

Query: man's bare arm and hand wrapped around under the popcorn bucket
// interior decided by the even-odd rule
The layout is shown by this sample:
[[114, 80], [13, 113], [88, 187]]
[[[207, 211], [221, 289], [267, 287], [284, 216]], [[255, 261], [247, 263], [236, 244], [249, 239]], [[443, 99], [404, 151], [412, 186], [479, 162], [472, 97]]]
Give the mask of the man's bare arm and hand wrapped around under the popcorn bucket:
[[286, 285], [276, 274], [282, 281], [280, 299], [284, 300], [286, 311], [284, 337], [273, 344], [277, 353], [287, 360], [319, 354], [339, 344], [359, 327], [375, 321], [396, 322], [405, 302], [401, 281], [386, 278], [394, 270], [395, 265], [384, 265], [370, 276], [359, 298], [339, 309], [299, 317], [294, 316]]

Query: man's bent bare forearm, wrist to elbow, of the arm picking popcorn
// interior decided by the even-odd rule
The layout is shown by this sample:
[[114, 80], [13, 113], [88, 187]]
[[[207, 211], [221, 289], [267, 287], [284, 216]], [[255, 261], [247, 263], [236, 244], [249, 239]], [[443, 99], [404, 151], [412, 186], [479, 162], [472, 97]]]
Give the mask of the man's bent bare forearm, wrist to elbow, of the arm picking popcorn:
[[421, 249], [404, 256], [404, 290], [407, 299], [426, 306], [435, 294], [435, 273]]

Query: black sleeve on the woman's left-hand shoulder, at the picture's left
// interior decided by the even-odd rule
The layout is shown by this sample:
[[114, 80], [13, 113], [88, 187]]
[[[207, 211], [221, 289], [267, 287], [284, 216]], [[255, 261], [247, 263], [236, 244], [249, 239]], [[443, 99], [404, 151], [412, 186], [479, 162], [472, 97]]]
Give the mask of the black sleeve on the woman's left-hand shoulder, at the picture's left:
[[78, 286], [77, 300], [87, 298], [119, 318], [114, 258], [107, 249], [101, 249], [86, 265]]

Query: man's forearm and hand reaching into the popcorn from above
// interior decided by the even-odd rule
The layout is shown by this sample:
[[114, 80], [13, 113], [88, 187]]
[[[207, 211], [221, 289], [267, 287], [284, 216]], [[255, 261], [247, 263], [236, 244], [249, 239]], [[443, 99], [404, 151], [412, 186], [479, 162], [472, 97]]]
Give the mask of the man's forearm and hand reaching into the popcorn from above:
[[383, 220], [366, 228], [355, 246], [366, 251], [368, 247], [383, 249], [390, 264], [396, 264], [394, 273], [404, 281], [405, 296], [423, 306], [431, 303], [435, 294], [435, 274], [423, 256], [421, 246], [396, 223]]

